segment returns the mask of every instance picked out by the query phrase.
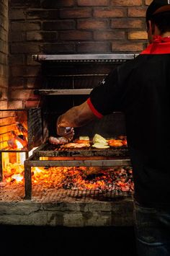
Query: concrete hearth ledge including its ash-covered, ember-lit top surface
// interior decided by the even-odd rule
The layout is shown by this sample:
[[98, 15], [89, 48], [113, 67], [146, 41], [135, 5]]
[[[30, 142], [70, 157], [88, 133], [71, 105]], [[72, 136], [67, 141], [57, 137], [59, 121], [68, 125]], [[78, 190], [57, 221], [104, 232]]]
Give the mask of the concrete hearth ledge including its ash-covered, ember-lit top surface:
[[24, 200], [23, 185], [0, 189], [0, 224], [26, 226], [133, 226], [133, 195], [32, 187]]

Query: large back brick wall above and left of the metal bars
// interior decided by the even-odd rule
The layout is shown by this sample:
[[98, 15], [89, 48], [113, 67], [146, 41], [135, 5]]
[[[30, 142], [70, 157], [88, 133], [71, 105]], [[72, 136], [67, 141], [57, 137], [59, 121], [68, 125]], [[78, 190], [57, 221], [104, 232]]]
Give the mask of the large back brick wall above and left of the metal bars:
[[10, 0], [10, 107], [39, 99], [34, 53], [138, 53], [146, 47], [151, 0]]

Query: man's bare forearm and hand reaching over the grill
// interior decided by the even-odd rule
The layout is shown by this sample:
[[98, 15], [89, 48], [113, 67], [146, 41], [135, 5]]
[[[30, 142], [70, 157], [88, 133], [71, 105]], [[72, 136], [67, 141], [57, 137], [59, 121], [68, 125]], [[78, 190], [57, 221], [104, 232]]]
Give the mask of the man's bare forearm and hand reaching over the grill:
[[84, 102], [79, 106], [72, 107], [63, 115], [59, 116], [57, 120], [57, 133], [60, 136], [68, 136], [68, 138], [70, 136], [71, 138], [71, 135], [73, 135], [73, 129], [71, 132], [66, 133], [66, 127], [81, 127], [89, 123], [91, 120], [94, 120], [95, 118], [97, 117], [91, 111], [88, 103]]

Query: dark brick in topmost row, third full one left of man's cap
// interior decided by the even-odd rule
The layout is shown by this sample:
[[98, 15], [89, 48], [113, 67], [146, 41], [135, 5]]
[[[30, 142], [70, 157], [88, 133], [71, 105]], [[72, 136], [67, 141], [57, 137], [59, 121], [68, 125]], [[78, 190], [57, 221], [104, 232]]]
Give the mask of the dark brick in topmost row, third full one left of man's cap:
[[42, 8], [58, 8], [61, 6], [74, 6], [74, 0], [43, 0], [42, 1]]

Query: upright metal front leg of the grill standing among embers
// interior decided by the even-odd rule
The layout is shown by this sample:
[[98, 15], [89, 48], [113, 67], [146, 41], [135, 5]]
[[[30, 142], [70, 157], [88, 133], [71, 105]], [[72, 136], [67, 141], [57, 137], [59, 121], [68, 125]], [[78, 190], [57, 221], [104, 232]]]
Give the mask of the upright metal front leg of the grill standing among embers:
[[24, 161], [24, 192], [24, 199], [30, 200], [32, 197], [31, 166], [27, 165], [27, 160]]

